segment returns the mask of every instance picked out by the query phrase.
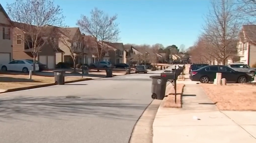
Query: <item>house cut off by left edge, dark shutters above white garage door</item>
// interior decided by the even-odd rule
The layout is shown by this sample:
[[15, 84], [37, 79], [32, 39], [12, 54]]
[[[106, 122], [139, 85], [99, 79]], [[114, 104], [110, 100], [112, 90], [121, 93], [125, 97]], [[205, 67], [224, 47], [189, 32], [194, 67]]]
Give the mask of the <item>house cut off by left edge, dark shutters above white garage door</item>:
[[13, 23], [0, 4], [0, 65], [12, 60]]

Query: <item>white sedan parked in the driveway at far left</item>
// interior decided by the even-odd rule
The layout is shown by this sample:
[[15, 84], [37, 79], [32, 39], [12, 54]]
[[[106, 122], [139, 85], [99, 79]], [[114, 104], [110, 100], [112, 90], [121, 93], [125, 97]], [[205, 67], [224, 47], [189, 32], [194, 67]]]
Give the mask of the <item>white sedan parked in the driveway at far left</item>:
[[[39, 70], [38, 64], [36, 66], [36, 71]], [[33, 71], [33, 62], [29, 60], [14, 60], [7, 64], [2, 64], [1, 69], [3, 71], [22, 71], [28, 73], [30, 70]]]

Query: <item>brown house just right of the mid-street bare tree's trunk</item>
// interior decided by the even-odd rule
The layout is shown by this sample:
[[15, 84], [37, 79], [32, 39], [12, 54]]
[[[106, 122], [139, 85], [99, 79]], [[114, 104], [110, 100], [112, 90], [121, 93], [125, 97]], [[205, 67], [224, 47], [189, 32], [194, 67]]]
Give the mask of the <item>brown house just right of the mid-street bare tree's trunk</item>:
[[[124, 45], [123, 43], [111, 43], [104, 42], [108, 46], [107, 50], [103, 56], [103, 61], [111, 62], [112, 64], [123, 63], [126, 60], [126, 55], [124, 55]], [[112, 49], [112, 50], [111, 50]]]

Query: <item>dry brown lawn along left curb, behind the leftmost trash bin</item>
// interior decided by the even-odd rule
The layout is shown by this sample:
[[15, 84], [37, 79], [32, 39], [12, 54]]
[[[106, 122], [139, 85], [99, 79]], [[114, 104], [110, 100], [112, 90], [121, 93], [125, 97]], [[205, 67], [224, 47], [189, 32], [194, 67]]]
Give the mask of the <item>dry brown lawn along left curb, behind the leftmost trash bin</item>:
[[[75, 81], [85, 78], [81, 77], [65, 77], [65, 81]], [[0, 74], [0, 89], [14, 89], [22, 87], [37, 86], [42, 84], [54, 83], [54, 77], [33, 75], [32, 80], [29, 75], [9, 75]]]

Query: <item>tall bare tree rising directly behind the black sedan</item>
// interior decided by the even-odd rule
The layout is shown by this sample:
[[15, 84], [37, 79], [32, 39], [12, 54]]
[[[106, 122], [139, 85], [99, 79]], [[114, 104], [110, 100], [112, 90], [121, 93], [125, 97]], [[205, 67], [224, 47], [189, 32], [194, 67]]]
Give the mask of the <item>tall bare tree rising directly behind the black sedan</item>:
[[206, 47], [208, 53], [222, 64], [237, 53], [236, 42], [241, 27], [239, 18], [240, 13], [233, 0], [211, 0], [203, 37], [211, 45]]

